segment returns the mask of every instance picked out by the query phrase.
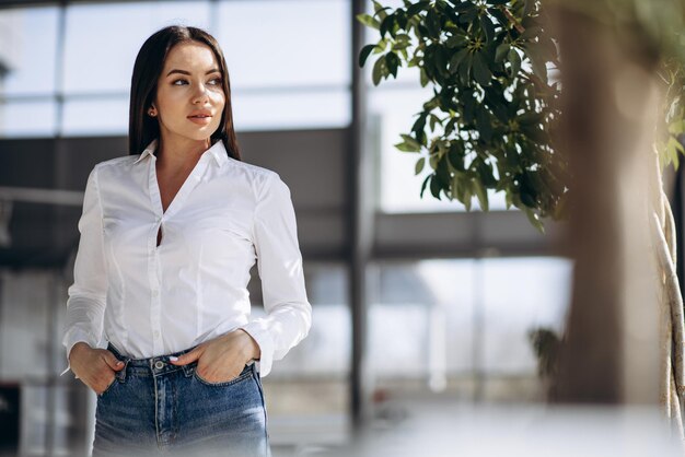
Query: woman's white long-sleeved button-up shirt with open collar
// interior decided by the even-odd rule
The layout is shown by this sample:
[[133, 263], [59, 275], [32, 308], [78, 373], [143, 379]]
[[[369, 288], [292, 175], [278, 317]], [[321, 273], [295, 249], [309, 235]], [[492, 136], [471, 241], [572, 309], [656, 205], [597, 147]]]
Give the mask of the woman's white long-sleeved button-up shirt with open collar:
[[[277, 173], [230, 157], [218, 141], [164, 212], [156, 144], [98, 163], [88, 178], [67, 354], [79, 341], [96, 347], [104, 338], [144, 359], [243, 328], [259, 345], [266, 376], [311, 327], [290, 189]], [[255, 261], [266, 316], [251, 319]]]

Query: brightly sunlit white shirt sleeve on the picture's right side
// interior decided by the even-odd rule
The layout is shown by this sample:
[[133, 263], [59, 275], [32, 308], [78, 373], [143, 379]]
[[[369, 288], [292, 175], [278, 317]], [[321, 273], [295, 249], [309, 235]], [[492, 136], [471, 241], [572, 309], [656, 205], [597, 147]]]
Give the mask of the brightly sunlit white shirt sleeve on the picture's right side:
[[242, 328], [259, 345], [259, 372], [266, 376], [272, 361], [306, 337], [312, 325], [290, 189], [276, 173], [257, 201], [253, 236], [267, 315]]

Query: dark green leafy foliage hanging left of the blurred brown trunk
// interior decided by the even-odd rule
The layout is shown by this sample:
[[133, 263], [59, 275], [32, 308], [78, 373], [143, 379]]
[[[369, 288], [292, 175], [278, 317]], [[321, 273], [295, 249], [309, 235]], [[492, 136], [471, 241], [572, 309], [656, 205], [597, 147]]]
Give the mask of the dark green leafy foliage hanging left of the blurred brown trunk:
[[543, 230], [542, 218], [564, 214], [567, 165], [550, 134], [559, 121], [558, 82], [549, 68], [557, 48], [544, 26], [539, 2], [474, 0], [404, 2], [358, 20], [381, 39], [361, 49], [359, 63], [378, 55], [373, 83], [400, 67], [417, 67], [433, 96], [397, 149], [417, 153], [421, 185], [471, 209], [488, 210], [488, 189], [506, 194], [507, 208], [523, 210]]

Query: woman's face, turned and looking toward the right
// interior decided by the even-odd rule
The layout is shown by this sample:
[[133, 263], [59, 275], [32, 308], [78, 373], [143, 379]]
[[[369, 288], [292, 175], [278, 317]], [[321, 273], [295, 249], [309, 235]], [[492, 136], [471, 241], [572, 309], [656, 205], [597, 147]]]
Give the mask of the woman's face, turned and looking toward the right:
[[169, 51], [152, 104], [163, 142], [209, 141], [225, 104], [221, 78], [209, 46], [190, 42]]

